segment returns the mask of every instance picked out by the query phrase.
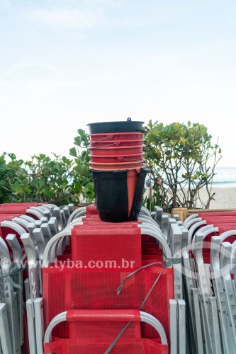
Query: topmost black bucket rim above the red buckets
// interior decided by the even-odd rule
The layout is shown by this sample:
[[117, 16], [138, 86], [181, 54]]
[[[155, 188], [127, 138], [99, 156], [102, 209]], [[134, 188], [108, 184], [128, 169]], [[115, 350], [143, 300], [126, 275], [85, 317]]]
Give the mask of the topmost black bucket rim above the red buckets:
[[90, 134], [116, 133], [116, 132], [144, 132], [142, 124], [144, 122], [135, 122], [131, 118], [120, 122], [98, 122], [87, 124]]

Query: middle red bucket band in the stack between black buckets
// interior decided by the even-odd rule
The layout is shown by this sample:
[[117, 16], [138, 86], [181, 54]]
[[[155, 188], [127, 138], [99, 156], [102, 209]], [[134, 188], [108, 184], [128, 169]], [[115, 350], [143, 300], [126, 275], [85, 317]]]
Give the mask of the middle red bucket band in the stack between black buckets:
[[89, 147], [91, 155], [96, 156], [117, 156], [117, 155], [130, 155], [141, 154], [144, 145], [130, 146], [130, 147]]

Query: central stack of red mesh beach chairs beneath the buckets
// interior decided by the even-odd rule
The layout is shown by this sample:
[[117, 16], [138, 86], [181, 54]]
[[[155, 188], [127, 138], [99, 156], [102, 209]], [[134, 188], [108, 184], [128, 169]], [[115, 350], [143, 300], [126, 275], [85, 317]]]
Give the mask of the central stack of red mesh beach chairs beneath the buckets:
[[[84, 217], [79, 217], [82, 210], [77, 210], [78, 217], [71, 218], [64, 232], [45, 248], [45, 353], [105, 353], [112, 344], [111, 353], [169, 353], [173, 271], [171, 266], [164, 269], [152, 265], [154, 260], [162, 262], [162, 253], [149, 256], [147, 249], [142, 253], [142, 235], [156, 234], [154, 239], [162, 243], [168, 258], [169, 247], [154, 232], [156, 226], [149, 215], [140, 216], [150, 223], [150, 228], [145, 229], [141, 220], [102, 222], [94, 210], [94, 206], [86, 207]], [[67, 236], [71, 238], [71, 249], [66, 246], [64, 255], [57, 256], [57, 263], [53, 263], [52, 248]], [[150, 249], [158, 249], [155, 246], [150, 242]], [[58, 261], [64, 259], [67, 265], [62, 270]], [[140, 309], [160, 273], [157, 286]], [[51, 295], [52, 288], [56, 297]], [[58, 316], [64, 316], [60, 324]]]

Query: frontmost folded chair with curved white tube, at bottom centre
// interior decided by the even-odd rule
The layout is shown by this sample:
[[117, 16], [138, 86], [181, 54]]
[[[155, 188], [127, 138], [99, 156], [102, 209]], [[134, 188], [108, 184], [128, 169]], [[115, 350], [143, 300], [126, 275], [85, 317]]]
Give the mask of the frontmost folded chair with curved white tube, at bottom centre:
[[[69, 339], [52, 341], [52, 331], [66, 321]], [[142, 338], [140, 322], [158, 332], [160, 341]], [[99, 326], [98, 326], [99, 324]], [[108, 353], [108, 348], [126, 324], [130, 324], [113, 346], [112, 353], [169, 353], [167, 336], [162, 324], [146, 312], [137, 310], [69, 310], [55, 316], [45, 332], [45, 354], [49, 353]], [[94, 328], [96, 329], [94, 331]], [[81, 336], [82, 338], [78, 338]]]

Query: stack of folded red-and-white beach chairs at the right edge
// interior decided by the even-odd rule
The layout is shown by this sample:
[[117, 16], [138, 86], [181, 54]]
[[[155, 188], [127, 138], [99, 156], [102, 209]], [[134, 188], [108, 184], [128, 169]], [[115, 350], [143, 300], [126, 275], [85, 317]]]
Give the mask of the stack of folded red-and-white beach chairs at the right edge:
[[189, 334], [198, 353], [236, 353], [236, 212], [186, 218], [184, 256]]

